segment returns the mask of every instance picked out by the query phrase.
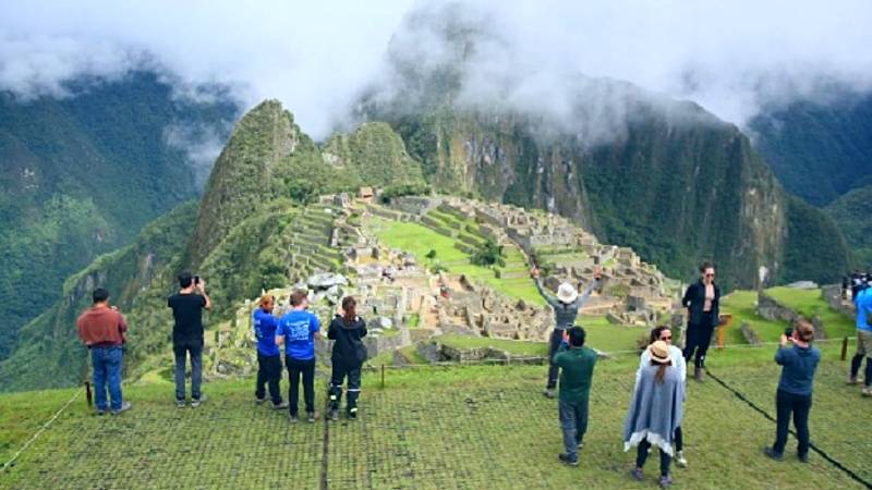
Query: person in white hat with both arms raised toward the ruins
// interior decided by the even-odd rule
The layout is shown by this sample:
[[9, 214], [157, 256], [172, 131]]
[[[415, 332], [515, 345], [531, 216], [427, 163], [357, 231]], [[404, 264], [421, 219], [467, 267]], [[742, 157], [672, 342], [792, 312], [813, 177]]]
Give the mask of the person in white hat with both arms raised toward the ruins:
[[[555, 396], [557, 375], [559, 372], [559, 368], [552, 360], [554, 358], [554, 353], [557, 352], [557, 348], [560, 346], [560, 342], [564, 339], [564, 333], [566, 330], [576, 323], [576, 319], [579, 316], [579, 309], [584, 306], [585, 303], [588, 303], [593, 290], [600, 285], [600, 280], [603, 277], [603, 269], [597, 267], [594, 270], [593, 282], [591, 282], [591, 284], [581, 295], [579, 295], [576, 286], [569, 282], [564, 282], [559, 287], [557, 287], [557, 297], [552, 296], [545, 291], [545, 287], [542, 285], [542, 278], [540, 278], [540, 270], [537, 268], [534, 267], [530, 274], [533, 277], [533, 279], [535, 279], [536, 287], [538, 289], [540, 294], [542, 294], [542, 297], [544, 297], [545, 302], [547, 302], [548, 305], [550, 305], [550, 307], [554, 309], [555, 327], [548, 341], [548, 382], [545, 385], [545, 391], [542, 393], [545, 396], [553, 399]], [[579, 286], [581, 286], [581, 284], [579, 284]]]

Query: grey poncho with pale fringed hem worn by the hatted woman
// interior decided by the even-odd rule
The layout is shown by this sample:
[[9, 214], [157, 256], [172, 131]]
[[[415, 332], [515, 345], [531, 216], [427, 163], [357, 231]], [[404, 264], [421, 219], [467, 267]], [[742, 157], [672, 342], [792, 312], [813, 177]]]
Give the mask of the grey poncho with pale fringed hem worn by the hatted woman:
[[673, 439], [683, 415], [681, 401], [685, 400], [685, 383], [675, 366], [668, 366], [663, 382], [657, 382], [654, 377], [658, 368], [642, 368], [623, 422], [623, 451], [647, 439], [667, 454], [675, 453]]

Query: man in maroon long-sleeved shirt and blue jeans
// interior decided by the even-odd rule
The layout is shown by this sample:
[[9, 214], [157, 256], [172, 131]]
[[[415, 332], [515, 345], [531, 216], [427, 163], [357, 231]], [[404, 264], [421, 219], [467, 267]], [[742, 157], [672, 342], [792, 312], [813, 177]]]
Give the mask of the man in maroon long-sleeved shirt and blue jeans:
[[[129, 411], [130, 402], [121, 399], [121, 345], [128, 323], [114, 308], [109, 307], [109, 292], [102, 287], [94, 290], [94, 306], [76, 321], [78, 336], [90, 351], [90, 365], [94, 371], [94, 391], [97, 399], [97, 415], [107, 409], [112, 415]], [[106, 403], [106, 385], [109, 384], [111, 406]]]

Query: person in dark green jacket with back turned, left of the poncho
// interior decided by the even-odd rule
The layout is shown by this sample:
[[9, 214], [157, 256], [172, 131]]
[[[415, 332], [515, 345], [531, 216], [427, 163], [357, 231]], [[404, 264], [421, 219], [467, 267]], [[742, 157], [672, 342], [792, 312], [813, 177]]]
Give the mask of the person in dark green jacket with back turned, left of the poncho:
[[559, 416], [564, 431], [564, 449], [559, 460], [579, 465], [579, 449], [588, 431], [588, 402], [591, 393], [596, 352], [584, 346], [584, 329], [572, 327], [564, 334], [564, 343], [552, 359], [560, 368]]

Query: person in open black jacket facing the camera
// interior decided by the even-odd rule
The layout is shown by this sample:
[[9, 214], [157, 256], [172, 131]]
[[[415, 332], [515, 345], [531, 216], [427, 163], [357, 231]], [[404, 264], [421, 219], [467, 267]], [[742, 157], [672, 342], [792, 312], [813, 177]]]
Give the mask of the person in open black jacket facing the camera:
[[688, 332], [685, 340], [685, 360], [693, 359], [693, 378], [702, 381], [705, 353], [712, 343], [712, 332], [720, 318], [720, 289], [715, 284], [715, 266], [703, 262], [700, 280], [688, 286], [681, 305], [688, 309]]

